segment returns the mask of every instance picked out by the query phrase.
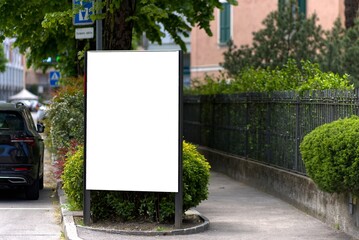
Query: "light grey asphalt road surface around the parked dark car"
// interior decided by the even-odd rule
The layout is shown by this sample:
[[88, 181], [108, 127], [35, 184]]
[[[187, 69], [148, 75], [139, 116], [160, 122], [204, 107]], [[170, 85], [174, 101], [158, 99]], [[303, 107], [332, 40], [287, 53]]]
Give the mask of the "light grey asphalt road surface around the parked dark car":
[[0, 190], [0, 240], [59, 240], [61, 213], [49, 154], [45, 153], [44, 189], [39, 200], [19, 190]]

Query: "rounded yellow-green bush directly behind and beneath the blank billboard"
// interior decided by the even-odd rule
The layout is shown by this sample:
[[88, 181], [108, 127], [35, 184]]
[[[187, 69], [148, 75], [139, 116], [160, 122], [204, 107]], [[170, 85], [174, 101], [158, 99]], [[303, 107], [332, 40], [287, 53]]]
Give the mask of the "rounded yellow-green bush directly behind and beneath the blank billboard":
[[[208, 197], [210, 166], [195, 146], [183, 143], [183, 210], [197, 206]], [[70, 206], [83, 204], [83, 148], [70, 156], [62, 177]], [[174, 193], [92, 191], [91, 211], [94, 220], [122, 221], [146, 219], [164, 222], [174, 218]]]

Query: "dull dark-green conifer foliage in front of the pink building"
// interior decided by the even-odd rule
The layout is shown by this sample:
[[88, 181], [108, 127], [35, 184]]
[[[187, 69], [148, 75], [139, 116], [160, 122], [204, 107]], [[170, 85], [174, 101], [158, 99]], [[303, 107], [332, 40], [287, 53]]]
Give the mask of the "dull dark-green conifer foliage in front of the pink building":
[[345, 29], [338, 19], [330, 31], [323, 31], [315, 15], [303, 18], [291, 4], [267, 16], [264, 28], [253, 33], [252, 46], [237, 48], [229, 43], [222, 63], [229, 76], [237, 76], [249, 66], [274, 69], [284, 66], [288, 59], [298, 65], [309, 60], [318, 63], [322, 71], [347, 74], [358, 87], [359, 20], [353, 20], [351, 27]]

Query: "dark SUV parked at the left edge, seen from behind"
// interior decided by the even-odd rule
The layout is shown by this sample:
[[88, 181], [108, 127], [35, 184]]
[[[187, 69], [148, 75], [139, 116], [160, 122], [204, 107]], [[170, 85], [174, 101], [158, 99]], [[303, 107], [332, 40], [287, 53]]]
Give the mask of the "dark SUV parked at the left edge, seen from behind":
[[44, 187], [44, 142], [29, 109], [0, 103], [0, 188], [21, 188], [29, 200]]

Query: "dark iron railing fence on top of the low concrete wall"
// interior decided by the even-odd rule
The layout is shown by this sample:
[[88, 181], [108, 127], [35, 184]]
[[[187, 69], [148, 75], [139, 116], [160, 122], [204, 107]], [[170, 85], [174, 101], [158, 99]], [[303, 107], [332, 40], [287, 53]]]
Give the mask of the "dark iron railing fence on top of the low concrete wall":
[[299, 145], [324, 123], [359, 115], [359, 89], [184, 97], [184, 138], [305, 174]]

